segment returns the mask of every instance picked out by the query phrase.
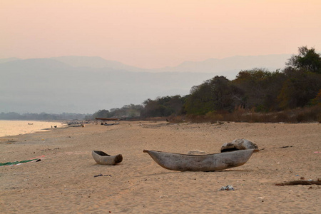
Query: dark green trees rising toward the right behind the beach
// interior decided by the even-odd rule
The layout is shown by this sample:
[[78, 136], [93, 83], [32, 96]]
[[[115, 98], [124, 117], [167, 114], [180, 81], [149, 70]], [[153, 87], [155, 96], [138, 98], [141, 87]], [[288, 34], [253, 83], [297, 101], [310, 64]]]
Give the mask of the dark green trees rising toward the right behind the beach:
[[[93, 116], [206, 116], [247, 109], [269, 113], [321, 105], [321, 57], [314, 48], [299, 48], [281, 71], [253, 68], [240, 71], [235, 79], [215, 76], [193, 86], [186, 96], [148, 98], [143, 105], [100, 110]], [[321, 117], [321, 115], [320, 115]]]

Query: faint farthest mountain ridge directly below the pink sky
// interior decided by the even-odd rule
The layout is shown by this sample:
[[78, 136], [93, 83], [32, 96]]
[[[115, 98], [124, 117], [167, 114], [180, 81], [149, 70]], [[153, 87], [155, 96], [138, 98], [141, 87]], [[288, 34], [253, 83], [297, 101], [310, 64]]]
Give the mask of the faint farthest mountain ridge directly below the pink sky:
[[55, 57], [74, 67], [91, 68], [113, 68], [115, 70], [134, 71], [134, 72], [196, 72], [196, 73], [217, 73], [217, 75], [226, 76], [229, 79], [235, 78], [236, 74], [242, 70], [252, 68], [267, 68], [269, 71], [275, 71], [285, 67], [285, 62], [291, 57], [290, 54], [275, 54], [266, 56], [233, 56], [228, 58], [208, 58], [205, 61], [185, 61], [178, 66], [144, 69], [134, 66], [128, 66], [118, 61], [108, 61], [98, 56], [61, 56]]

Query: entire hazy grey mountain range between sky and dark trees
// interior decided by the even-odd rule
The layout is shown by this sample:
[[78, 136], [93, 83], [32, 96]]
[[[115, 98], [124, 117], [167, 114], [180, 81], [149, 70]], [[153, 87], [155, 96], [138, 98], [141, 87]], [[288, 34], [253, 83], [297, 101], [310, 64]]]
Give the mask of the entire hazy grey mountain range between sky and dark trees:
[[94, 113], [158, 96], [186, 95], [214, 76], [284, 68], [290, 54], [234, 56], [145, 69], [98, 56], [0, 59], [0, 112]]

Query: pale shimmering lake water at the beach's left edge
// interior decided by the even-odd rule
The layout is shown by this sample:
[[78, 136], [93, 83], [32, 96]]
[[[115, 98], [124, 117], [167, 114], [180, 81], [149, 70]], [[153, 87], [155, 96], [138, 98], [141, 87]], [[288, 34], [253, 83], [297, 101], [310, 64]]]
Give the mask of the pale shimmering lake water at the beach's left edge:
[[[0, 121], [0, 137], [17, 136], [37, 131], [49, 131], [51, 126], [53, 128], [54, 126], [62, 127], [66, 126], [66, 124], [57, 121]], [[49, 130], [44, 130], [45, 128], [49, 128]]]

